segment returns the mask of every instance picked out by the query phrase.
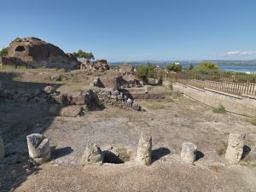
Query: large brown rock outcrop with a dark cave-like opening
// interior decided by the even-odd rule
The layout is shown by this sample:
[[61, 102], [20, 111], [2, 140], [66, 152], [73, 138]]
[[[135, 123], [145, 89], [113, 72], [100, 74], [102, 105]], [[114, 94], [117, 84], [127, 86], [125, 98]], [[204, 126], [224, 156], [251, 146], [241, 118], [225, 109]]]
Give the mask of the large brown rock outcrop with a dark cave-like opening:
[[25, 65], [27, 67], [75, 68], [79, 61], [71, 54], [39, 38], [16, 38], [9, 45], [3, 65]]

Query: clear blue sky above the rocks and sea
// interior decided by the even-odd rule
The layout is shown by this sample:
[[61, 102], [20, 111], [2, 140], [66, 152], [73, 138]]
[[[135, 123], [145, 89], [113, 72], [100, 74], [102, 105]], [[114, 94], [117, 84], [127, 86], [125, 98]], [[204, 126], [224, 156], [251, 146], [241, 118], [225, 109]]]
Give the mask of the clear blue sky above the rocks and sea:
[[255, 0], [0, 0], [0, 48], [37, 37], [108, 61], [256, 59]]

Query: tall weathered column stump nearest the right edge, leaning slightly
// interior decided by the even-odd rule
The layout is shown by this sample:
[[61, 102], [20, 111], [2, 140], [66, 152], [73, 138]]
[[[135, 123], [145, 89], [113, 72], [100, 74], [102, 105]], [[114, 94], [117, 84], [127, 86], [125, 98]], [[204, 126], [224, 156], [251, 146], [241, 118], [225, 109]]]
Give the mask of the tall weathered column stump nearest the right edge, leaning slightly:
[[225, 158], [232, 164], [236, 164], [241, 160], [246, 133], [242, 130], [233, 130], [230, 132], [228, 148]]

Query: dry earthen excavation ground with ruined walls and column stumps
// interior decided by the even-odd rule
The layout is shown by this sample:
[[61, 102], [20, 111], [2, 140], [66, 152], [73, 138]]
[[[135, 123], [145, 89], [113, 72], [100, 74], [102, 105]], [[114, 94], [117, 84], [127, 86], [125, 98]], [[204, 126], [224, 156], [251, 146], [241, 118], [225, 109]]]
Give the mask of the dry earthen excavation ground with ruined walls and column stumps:
[[116, 74], [0, 73], [1, 191], [256, 191], [249, 118]]

